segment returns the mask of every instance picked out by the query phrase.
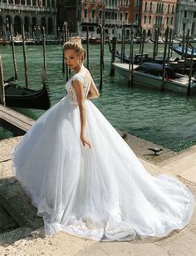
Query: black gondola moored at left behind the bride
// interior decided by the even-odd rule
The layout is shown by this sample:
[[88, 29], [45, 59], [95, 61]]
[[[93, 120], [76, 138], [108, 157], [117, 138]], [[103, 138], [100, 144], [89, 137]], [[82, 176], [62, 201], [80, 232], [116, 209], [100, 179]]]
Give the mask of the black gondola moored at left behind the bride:
[[7, 107], [35, 108], [47, 110], [51, 108], [51, 93], [47, 85], [47, 79], [42, 75], [42, 89], [33, 90], [24, 88], [11, 79], [4, 82], [5, 102]]

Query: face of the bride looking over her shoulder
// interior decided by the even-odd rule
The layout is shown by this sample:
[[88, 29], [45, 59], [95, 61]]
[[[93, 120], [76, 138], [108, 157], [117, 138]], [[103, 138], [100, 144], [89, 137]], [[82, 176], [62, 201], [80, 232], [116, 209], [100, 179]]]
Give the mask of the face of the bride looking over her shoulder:
[[66, 59], [66, 64], [69, 68], [77, 70], [81, 63], [81, 54], [76, 53], [74, 50], [66, 50], [64, 57]]

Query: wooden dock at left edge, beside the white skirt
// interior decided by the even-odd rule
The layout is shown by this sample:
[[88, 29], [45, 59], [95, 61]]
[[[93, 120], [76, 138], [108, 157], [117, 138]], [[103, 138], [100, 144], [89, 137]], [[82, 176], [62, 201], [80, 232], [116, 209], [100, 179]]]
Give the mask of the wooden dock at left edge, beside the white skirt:
[[0, 124], [17, 135], [27, 133], [35, 121], [12, 108], [0, 104]]

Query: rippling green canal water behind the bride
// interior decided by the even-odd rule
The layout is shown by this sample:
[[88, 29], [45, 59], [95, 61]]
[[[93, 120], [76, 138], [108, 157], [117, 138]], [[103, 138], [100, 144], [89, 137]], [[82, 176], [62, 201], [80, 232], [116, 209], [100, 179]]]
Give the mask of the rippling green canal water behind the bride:
[[[84, 46], [86, 47], [86, 46]], [[120, 50], [120, 45], [118, 45]], [[125, 52], [129, 53], [126, 45]], [[134, 45], [139, 53], [139, 45]], [[163, 46], [159, 55], [163, 56]], [[10, 78], [13, 72], [12, 48], [1, 46], [4, 78]], [[144, 53], [152, 56], [153, 46], [145, 44]], [[174, 55], [174, 57], [177, 55]], [[24, 68], [22, 47], [16, 47], [18, 81], [24, 86]], [[61, 46], [47, 46], [47, 78], [51, 88], [51, 105], [66, 95], [66, 78], [61, 73]], [[100, 46], [90, 45], [90, 69], [96, 85], [100, 83]], [[170, 92], [159, 92], [145, 88], [128, 88], [127, 81], [118, 73], [110, 77], [110, 53], [105, 45], [104, 83], [100, 98], [93, 100], [100, 111], [115, 128], [121, 128], [145, 140], [157, 143], [176, 151], [189, 148], [196, 143], [196, 97]], [[27, 46], [27, 68], [29, 88], [42, 87], [42, 46]], [[17, 109], [31, 118], [38, 118], [43, 111]], [[9, 138], [9, 133], [0, 127], [0, 139]]]

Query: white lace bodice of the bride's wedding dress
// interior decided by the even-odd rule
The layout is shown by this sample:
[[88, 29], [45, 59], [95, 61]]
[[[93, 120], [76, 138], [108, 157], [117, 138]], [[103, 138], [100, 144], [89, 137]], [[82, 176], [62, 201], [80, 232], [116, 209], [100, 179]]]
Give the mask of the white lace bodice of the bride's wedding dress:
[[77, 98], [76, 98], [76, 91], [72, 86], [72, 81], [77, 80], [82, 84], [84, 98], [87, 98], [87, 94], [91, 86], [91, 79], [92, 78], [89, 71], [84, 66], [82, 66], [81, 71], [79, 73], [76, 73], [70, 80], [66, 82], [66, 91], [67, 91], [68, 97], [71, 100], [71, 103], [78, 105]]

